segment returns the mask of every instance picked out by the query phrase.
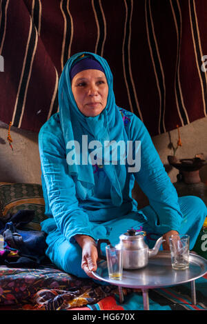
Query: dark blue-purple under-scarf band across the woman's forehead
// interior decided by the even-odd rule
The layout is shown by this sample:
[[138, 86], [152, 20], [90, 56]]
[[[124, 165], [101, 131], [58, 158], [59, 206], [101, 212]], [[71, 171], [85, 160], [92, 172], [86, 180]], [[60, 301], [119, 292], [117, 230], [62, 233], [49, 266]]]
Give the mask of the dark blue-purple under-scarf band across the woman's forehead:
[[86, 57], [86, 59], [81, 59], [72, 66], [70, 70], [70, 81], [72, 81], [77, 73], [83, 70], [100, 70], [104, 73], [104, 70], [98, 61]]

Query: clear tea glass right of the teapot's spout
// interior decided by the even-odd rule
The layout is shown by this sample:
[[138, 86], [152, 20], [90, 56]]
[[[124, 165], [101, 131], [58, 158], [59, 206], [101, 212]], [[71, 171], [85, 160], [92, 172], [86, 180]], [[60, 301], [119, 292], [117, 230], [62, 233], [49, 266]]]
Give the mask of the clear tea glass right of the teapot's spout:
[[174, 270], [185, 270], [189, 267], [189, 240], [190, 236], [176, 234], [171, 235], [170, 242], [170, 253], [172, 261], [172, 269]]

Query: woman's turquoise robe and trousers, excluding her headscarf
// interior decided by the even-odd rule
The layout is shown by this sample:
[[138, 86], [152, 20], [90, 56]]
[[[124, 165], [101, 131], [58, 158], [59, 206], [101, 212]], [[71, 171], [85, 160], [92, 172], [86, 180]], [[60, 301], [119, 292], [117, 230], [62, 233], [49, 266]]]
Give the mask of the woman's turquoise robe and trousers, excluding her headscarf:
[[[60, 269], [80, 277], [81, 248], [76, 234], [119, 242], [119, 235], [130, 228], [143, 232], [150, 247], [170, 230], [190, 235], [190, 249], [207, 215], [206, 205], [195, 196], [178, 198], [159, 154], [155, 150], [144, 123], [126, 110], [120, 109], [131, 141], [141, 141], [141, 168], [126, 172], [121, 182], [123, 202], [116, 206], [110, 196], [110, 181], [100, 165], [93, 166], [95, 187], [82, 199], [75, 179], [68, 174], [66, 143], [61, 130], [59, 113], [52, 115], [39, 132], [41, 181], [48, 219], [41, 228], [48, 234], [46, 254]], [[148, 196], [149, 205], [139, 209], [132, 199], [135, 181]], [[104, 250], [103, 250], [104, 253]]]

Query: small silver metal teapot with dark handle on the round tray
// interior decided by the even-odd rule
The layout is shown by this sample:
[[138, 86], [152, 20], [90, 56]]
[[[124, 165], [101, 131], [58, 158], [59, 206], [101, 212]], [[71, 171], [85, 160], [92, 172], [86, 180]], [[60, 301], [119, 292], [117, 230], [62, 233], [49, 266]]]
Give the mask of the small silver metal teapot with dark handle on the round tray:
[[[161, 243], [165, 241], [161, 236], [155, 243], [153, 249], [150, 250], [148, 245], [144, 242], [143, 234], [140, 234], [135, 230], [128, 230], [126, 233], [121, 234], [119, 239], [120, 241], [117, 245], [121, 245], [123, 253], [123, 268], [125, 270], [140, 269], [141, 267], [148, 265], [148, 259], [157, 254]], [[106, 256], [101, 254], [101, 243], [107, 243], [110, 245], [110, 241], [103, 239], [97, 241], [99, 258], [106, 260]]]

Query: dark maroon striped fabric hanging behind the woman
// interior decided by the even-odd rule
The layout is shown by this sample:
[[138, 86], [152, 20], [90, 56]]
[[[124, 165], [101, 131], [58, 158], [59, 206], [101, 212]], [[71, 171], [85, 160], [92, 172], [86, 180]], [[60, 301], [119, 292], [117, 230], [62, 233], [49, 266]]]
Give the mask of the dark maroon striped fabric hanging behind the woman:
[[1, 0], [0, 120], [39, 132], [76, 52], [114, 74], [117, 105], [156, 135], [206, 117], [206, 0]]

